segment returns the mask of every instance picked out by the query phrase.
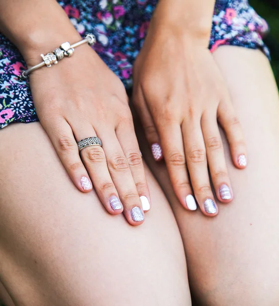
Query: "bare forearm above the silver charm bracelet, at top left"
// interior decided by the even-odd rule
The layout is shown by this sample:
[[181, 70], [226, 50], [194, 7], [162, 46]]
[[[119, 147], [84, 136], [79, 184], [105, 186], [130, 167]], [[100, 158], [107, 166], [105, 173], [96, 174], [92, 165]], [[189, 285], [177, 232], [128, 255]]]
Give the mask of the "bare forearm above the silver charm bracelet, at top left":
[[0, 32], [28, 63], [65, 41], [81, 39], [56, 0], [0, 1]]

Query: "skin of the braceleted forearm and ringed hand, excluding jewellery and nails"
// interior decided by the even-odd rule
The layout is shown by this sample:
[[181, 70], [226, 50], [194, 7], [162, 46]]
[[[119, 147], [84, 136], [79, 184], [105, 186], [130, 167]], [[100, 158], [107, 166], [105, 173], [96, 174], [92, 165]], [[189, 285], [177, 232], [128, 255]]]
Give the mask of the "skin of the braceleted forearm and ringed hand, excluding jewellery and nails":
[[[16, 10], [21, 10], [18, 12], [23, 19], [21, 23], [34, 15], [41, 18], [19, 33], [17, 21], [9, 22], [13, 17], [9, 8], [15, 5]], [[16, 0], [8, 4], [0, 1], [3, 12], [0, 28], [19, 48], [28, 67], [40, 61], [37, 55], [43, 50], [52, 46], [54, 49], [65, 39], [70, 42], [82, 39], [58, 3], [50, 0], [48, 5], [46, 11], [43, 2], [37, 0], [24, 4]], [[48, 33], [57, 33], [57, 29], [52, 32], [49, 20], [54, 27], [56, 23], [61, 25], [55, 37], [44, 35], [45, 31], [41, 33], [46, 27]], [[128, 97], [119, 78], [91, 47], [83, 45], [73, 57], [52, 69], [34, 71], [30, 87], [40, 122], [75, 186], [82, 192], [90, 192], [93, 185], [109, 213], [123, 213], [130, 224], [142, 224], [143, 220], [133, 220], [131, 211], [134, 207], [142, 210], [140, 196], [147, 197], [149, 203], [151, 200]], [[103, 139], [103, 147], [86, 147], [79, 154], [77, 141], [93, 136]], [[84, 177], [91, 188], [83, 189]], [[111, 207], [110, 198], [115, 196], [122, 209]]]

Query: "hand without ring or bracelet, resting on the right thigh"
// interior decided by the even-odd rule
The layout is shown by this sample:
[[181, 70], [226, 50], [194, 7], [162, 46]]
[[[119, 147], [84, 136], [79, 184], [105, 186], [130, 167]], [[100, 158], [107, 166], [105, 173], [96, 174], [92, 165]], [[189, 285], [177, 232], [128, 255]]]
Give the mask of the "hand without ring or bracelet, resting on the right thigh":
[[133, 101], [154, 158], [164, 156], [182, 205], [195, 210], [194, 193], [200, 210], [215, 216], [210, 175], [218, 200], [233, 199], [218, 122], [238, 168], [246, 166], [245, 143], [208, 41], [180, 30], [151, 21], [134, 65]]

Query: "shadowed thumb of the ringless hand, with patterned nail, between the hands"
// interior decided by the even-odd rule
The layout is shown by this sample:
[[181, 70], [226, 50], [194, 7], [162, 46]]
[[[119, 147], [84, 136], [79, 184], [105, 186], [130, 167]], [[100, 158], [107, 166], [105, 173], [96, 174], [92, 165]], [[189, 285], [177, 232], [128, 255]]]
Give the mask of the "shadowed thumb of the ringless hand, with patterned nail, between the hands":
[[154, 159], [159, 162], [163, 159], [163, 152], [160, 145], [160, 138], [157, 133], [154, 121], [150, 115], [150, 112], [145, 103], [145, 99], [141, 89], [138, 89], [136, 94], [133, 96], [135, 108], [141, 119], [142, 127], [144, 130], [145, 137], [151, 148]]

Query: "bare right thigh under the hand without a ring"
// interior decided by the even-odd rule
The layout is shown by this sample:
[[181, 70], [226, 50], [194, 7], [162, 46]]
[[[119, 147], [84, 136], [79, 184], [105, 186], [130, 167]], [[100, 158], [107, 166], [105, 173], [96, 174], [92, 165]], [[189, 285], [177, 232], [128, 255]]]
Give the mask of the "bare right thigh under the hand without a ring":
[[190, 287], [201, 305], [279, 303], [279, 99], [260, 50], [222, 46], [223, 72], [247, 141], [248, 166], [236, 169], [225, 143], [234, 201], [207, 218], [176, 200], [164, 164], [156, 164], [138, 132], [141, 150], [169, 201], [183, 237]]

